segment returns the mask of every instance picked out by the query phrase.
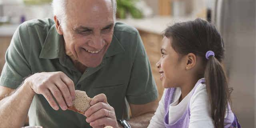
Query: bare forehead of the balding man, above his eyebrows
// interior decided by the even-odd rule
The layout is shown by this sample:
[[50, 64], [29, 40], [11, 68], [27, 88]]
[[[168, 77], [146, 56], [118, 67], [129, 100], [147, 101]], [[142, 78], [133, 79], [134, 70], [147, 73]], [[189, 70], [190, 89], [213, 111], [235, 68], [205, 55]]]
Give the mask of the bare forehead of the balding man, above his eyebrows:
[[[82, 3], [80, 3], [81, 1]], [[68, 4], [68, 24], [76, 26], [105, 27], [114, 24], [110, 0], [75, 0]]]

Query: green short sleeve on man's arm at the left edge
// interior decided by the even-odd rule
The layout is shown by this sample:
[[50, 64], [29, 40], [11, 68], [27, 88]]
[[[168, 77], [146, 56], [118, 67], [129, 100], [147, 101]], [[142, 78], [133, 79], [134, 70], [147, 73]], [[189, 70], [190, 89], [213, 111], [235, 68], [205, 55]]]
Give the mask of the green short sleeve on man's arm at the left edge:
[[29, 54], [29, 43], [28, 28], [26, 24], [22, 24], [14, 33], [6, 51], [6, 63], [0, 77], [0, 85], [17, 88], [24, 81], [24, 77], [31, 74], [28, 56], [26, 56]]

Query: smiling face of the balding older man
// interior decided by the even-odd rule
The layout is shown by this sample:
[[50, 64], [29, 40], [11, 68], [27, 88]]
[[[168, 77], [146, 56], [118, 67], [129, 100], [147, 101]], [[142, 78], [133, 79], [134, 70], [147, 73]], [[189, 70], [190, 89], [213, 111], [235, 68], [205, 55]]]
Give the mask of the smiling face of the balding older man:
[[102, 62], [114, 32], [111, 0], [69, 0], [64, 36], [73, 63], [96, 67]]

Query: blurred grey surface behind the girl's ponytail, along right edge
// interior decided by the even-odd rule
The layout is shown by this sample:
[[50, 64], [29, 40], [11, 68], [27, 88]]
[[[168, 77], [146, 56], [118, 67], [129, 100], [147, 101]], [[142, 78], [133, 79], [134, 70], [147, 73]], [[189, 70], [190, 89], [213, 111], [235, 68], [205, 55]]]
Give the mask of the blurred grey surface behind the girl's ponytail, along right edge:
[[256, 128], [256, 1], [224, 0], [221, 28], [232, 108], [242, 128]]

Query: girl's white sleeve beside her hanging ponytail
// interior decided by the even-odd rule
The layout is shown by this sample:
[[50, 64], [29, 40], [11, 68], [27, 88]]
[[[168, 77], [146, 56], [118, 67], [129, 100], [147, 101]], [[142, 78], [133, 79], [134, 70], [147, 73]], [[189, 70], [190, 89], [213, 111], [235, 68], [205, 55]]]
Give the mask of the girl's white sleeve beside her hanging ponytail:
[[214, 128], [205, 84], [199, 84], [190, 100], [189, 128]]

